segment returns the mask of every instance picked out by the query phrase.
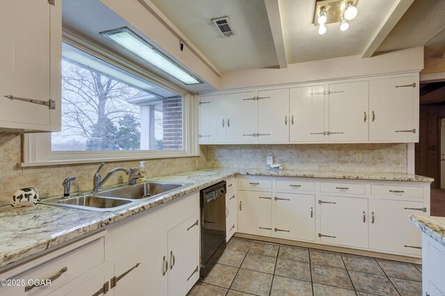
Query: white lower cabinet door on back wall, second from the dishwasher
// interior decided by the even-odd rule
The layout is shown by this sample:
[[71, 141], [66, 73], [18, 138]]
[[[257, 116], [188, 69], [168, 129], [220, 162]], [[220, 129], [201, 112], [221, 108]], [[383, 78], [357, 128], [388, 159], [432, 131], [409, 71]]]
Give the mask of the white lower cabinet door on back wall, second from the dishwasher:
[[315, 240], [315, 195], [277, 193], [277, 227], [280, 238]]

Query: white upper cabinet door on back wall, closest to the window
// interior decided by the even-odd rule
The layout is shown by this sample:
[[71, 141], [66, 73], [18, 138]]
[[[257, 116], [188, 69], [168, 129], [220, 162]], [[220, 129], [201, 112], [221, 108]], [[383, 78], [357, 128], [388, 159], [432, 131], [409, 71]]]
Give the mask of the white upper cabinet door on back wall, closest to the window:
[[225, 94], [200, 99], [200, 144], [225, 142]]

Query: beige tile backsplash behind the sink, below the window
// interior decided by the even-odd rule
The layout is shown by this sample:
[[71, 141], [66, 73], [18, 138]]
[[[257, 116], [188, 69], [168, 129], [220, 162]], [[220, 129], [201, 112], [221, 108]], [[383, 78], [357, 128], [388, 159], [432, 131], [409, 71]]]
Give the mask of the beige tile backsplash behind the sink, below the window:
[[[20, 135], [0, 134], [0, 206], [12, 203], [15, 190], [24, 187], [35, 187], [41, 197], [63, 194], [63, 180], [74, 175], [77, 181], [72, 182], [72, 192], [92, 189], [92, 176], [99, 163], [79, 165], [52, 165], [45, 167], [17, 167], [22, 158], [22, 138]], [[196, 170], [200, 162], [196, 157], [161, 158], [146, 160], [147, 177], [174, 174]], [[139, 161], [121, 161], [107, 163], [102, 175], [113, 167], [138, 167]], [[118, 172], [107, 182], [106, 186], [127, 182], [128, 177]]]

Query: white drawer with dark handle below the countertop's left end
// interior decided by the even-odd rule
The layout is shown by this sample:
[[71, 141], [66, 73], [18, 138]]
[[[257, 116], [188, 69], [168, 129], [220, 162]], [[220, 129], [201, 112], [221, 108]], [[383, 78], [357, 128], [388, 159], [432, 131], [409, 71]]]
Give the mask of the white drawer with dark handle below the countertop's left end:
[[[27, 272], [17, 275], [14, 279], [52, 279], [49, 286], [25, 286], [6, 287], [1, 289], [1, 295], [48, 295], [54, 290], [73, 281], [92, 268], [104, 263], [104, 238], [74, 249]], [[100, 287], [98, 287], [99, 289]], [[3, 289], [5, 289], [3, 291]]]

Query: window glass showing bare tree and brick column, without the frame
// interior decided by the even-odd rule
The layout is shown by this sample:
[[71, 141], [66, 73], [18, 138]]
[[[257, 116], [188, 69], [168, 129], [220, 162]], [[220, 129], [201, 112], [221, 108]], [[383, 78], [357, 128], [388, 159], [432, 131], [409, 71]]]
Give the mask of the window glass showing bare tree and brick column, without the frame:
[[[52, 151], [182, 149], [182, 97], [68, 44]], [[162, 94], [162, 95], [160, 95]]]

